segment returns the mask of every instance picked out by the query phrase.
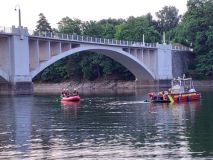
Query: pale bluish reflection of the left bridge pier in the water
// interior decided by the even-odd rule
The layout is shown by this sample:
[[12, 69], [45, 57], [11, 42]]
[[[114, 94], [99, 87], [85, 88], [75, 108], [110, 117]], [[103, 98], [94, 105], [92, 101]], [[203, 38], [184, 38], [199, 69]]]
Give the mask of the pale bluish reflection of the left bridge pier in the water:
[[[3, 97], [0, 104], [1, 155], [26, 153], [31, 138], [30, 97]], [[10, 155], [9, 155], [10, 156]]]

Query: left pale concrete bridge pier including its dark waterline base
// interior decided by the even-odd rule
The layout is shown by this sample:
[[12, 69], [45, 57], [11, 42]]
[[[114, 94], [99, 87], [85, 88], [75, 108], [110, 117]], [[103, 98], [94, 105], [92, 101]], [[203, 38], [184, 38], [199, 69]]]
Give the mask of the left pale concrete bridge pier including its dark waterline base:
[[0, 84], [0, 94], [32, 94], [28, 30], [22, 26], [19, 26], [19, 28], [13, 26], [12, 33], [13, 35], [8, 40], [8, 46], [11, 48], [7, 49], [9, 57], [6, 60], [8, 60], [8, 64], [5, 66], [8, 73], [6, 81], [8, 82]]

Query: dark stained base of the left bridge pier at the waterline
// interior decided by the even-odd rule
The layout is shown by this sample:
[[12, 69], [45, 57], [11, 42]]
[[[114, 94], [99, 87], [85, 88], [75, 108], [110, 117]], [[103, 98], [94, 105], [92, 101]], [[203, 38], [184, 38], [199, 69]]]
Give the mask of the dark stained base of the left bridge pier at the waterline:
[[0, 95], [29, 95], [33, 94], [32, 82], [3, 82], [0, 83]]

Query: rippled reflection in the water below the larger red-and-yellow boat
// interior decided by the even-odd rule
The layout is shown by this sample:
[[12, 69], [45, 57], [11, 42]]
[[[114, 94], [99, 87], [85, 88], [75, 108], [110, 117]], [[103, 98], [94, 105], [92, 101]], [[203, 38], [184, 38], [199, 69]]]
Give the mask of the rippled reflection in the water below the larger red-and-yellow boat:
[[152, 144], [152, 150], [157, 153], [167, 153], [167, 155], [172, 157], [175, 154], [177, 158], [178, 156], [189, 158], [191, 149], [188, 142], [188, 130], [195, 123], [195, 113], [199, 107], [200, 102], [179, 104], [151, 103], [149, 109], [150, 114], [155, 119], [153, 124], [155, 125], [155, 133], [153, 137], [148, 137], [147, 141], [149, 141], [148, 144]]

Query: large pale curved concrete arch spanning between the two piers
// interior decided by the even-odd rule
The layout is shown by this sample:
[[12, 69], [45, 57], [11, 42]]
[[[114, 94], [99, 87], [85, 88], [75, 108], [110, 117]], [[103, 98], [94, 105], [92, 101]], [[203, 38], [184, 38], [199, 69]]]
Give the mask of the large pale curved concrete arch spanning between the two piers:
[[52, 56], [49, 60], [42, 62], [39, 66], [30, 72], [31, 77], [34, 78], [37, 74], [43, 71], [46, 67], [55, 63], [56, 61], [65, 58], [74, 53], [83, 52], [83, 51], [92, 51], [95, 53], [103, 54], [107, 57], [112, 58], [113, 60], [119, 62], [124, 67], [126, 67], [137, 80], [153, 80], [155, 79], [154, 74], [149, 70], [139, 59], [134, 57], [131, 54], [123, 51], [121, 48], [114, 47], [104, 47], [98, 45], [81, 45], [78, 48], [73, 48], [58, 55]]

